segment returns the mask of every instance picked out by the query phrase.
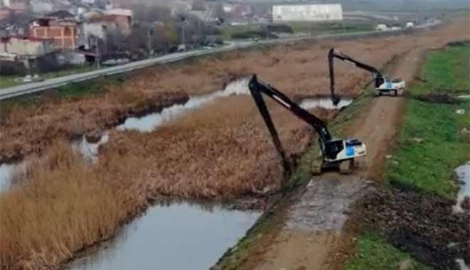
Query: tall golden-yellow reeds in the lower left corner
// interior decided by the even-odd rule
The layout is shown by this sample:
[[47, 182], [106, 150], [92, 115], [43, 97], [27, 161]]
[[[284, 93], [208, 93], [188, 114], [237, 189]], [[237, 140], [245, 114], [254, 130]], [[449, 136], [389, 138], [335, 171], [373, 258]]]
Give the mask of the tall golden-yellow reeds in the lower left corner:
[[1, 269], [53, 269], [112, 237], [147, 204], [136, 157], [90, 166], [55, 144], [28, 180], [0, 194]]

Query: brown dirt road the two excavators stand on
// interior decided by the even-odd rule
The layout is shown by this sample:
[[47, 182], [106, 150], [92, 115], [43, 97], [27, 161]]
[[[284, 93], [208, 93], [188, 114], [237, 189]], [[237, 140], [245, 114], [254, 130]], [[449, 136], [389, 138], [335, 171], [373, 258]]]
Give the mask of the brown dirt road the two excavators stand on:
[[[409, 84], [424, 60], [424, 53], [437, 45], [429, 39], [422, 47], [404, 53], [389, 70]], [[380, 181], [385, 156], [399, 131], [406, 97], [377, 97], [370, 109], [357, 118], [347, 133], [367, 145], [367, 157], [353, 175], [328, 173], [311, 180], [300, 200], [292, 205], [285, 224], [271, 244], [258, 251], [255, 269], [334, 269], [338, 262], [330, 252], [345, 240], [342, 227], [355, 199], [367, 192], [370, 180]], [[334, 254], [333, 254], [334, 255]]]

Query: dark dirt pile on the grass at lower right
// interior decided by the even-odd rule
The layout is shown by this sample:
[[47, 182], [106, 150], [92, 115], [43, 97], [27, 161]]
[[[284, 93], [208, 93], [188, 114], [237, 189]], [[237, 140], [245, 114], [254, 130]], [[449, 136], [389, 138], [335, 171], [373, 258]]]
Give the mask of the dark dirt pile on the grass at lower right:
[[470, 261], [470, 215], [454, 214], [454, 202], [410, 188], [376, 190], [366, 196], [365, 220], [424, 264], [459, 270]]

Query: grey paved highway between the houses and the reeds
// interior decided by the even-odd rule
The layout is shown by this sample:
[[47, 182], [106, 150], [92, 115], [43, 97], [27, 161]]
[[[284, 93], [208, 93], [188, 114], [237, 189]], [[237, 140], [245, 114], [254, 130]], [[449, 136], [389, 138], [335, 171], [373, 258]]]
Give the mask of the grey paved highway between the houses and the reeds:
[[[440, 21], [434, 23], [426, 23], [422, 24], [421, 26], [417, 26], [416, 28], [427, 28], [431, 26], [436, 26], [439, 24]], [[173, 53], [169, 55], [163, 55], [157, 58], [151, 58], [147, 60], [140, 60], [132, 63], [127, 63], [125, 65], [117, 65], [111, 68], [103, 68], [100, 70], [93, 70], [90, 72], [83, 72], [78, 73], [75, 75], [67, 75], [63, 77], [56, 77], [48, 80], [44, 80], [42, 82], [33, 82], [28, 83], [25, 85], [19, 85], [15, 87], [9, 87], [0, 90], [0, 100], [1, 99], [9, 99], [11, 97], [18, 97], [21, 95], [41, 92], [43, 90], [51, 89], [54, 87], [60, 87], [63, 85], [67, 85], [71, 82], [82, 82], [84, 80], [90, 80], [95, 77], [105, 76], [105, 75], [113, 75], [122, 72], [128, 72], [131, 70], [137, 70], [140, 68], [149, 67], [151, 65], [162, 64], [162, 63], [169, 63], [178, 60], [183, 60], [185, 58], [190, 58], [199, 55], [209, 55], [212, 53], [221, 53], [226, 52], [229, 50], [238, 50], [240, 48], [248, 48], [258, 44], [273, 44], [273, 43], [290, 43], [293, 41], [299, 41], [302, 39], [327, 39], [327, 38], [345, 38], [345, 37], [355, 37], [355, 36], [368, 36], [368, 35], [375, 35], [377, 33], [381, 34], [393, 34], [400, 31], [385, 31], [385, 32], [377, 32], [377, 31], [367, 31], [367, 32], [356, 32], [356, 33], [339, 33], [339, 34], [327, 34], [327, 35], [320, 35], [315, 37], [301, 37], [301, 38], [288, 38], [288, 39], [276, 39], [276, 40], [269, 40], [269, 41], [235, 41], [228, 43], [220, 48], [214, 48], [212, 50], [191, 50], [184, 53]]]

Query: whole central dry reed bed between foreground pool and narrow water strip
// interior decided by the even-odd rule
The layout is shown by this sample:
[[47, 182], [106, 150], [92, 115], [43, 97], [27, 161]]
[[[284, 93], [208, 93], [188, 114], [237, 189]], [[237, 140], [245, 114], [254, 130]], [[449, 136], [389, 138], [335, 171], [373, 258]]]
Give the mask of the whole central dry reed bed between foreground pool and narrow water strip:
[[[53, 144], [31, 161], [28, 180], [0, 194], [1, 269], [57, 268], [158, 196], [228, 200], [278, 190], [279, 159], [255, 110], [250, 97], [226, 97], [157, 131], [113, 131], [95, 165], [66, 142]], [[313, 133], [273, 112], [288, 153], [302, 151]]]

